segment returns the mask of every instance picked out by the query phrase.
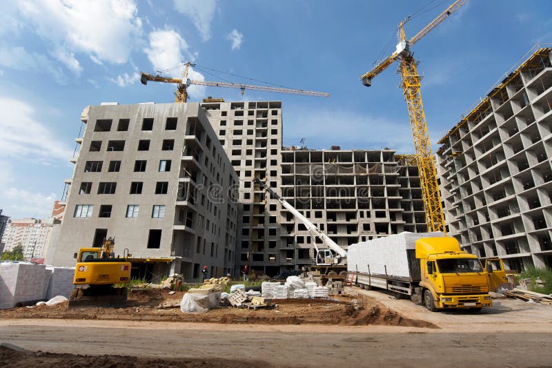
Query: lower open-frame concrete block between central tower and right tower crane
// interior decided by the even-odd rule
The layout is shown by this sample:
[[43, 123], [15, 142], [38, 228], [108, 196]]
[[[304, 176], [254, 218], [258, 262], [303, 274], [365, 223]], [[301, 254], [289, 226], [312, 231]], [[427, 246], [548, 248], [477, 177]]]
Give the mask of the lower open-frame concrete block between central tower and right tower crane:
[[[281, 193], [337, 244], [427, 230], [413, 157], [395, 151], [282, 151]], [[311, 236], [282, 208], [282, 268], [315, 264]]]

